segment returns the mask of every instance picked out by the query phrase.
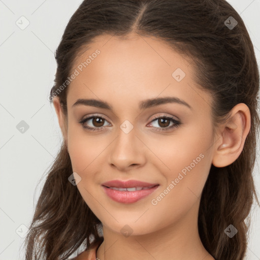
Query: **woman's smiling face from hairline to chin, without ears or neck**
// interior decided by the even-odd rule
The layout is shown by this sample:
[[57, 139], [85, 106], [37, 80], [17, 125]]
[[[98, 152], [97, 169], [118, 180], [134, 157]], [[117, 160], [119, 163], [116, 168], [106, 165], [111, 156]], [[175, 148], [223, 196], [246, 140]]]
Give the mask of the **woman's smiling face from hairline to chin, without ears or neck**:
[[[180, 221], [197, 224], [216, 148], [211, 97], [196, 87], [191, 64], [152, 38], [102, 36], [75, 60], [72, 73], [68, 150], [82, 198], [103, 226], [141, 235]], [[100, 102], [110, 109], [94, 105]], [[79, 122], [91, 116], [97, 118]], [[159, 185], [126, 203], [122, 192], [133, 191], [112, 200], [102, 186], [111, 180]]]

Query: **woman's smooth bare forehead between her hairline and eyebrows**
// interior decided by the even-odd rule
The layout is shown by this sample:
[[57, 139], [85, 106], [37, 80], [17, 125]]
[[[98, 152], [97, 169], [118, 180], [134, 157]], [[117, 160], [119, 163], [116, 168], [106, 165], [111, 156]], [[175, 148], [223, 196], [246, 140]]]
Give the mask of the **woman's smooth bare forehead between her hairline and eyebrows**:
[[169, 95], [188, 104], [197, 102], [203, 109], [209, 105], [202, 102], [209, 96], [196, 88], [190, 61], [156, 38], [96, 37], [81, 49], [74, 61], [75, 70], [78, 75], [68, 89], [68, 107], [84, 98], [132, 106], [133, 102]]

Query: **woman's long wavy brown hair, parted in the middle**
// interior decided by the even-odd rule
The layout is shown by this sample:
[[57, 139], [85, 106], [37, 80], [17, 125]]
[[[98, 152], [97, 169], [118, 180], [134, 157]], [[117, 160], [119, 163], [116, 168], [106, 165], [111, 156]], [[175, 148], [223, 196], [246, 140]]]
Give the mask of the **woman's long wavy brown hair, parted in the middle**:
[[[228, 26], [231, 21], [233, 24], [237, 21], [234, 28]], [[69, 87], [64, 82], [72, 74], [79, 51], [86, 50], [96, 36], [126, 37], [130, 32], [156, 37], [190, 58], [197, 72], [194, 80], [214, 96], [215, 125], [223, 122], [239, 103], [250, 110], [251, 128], [244, 148], [233, 164], [223, 168], [212, 165], [198, 218], [202, 243], [215, 259], [242, 260], [249, 228], [245, 219], [253, 196], [259, 205], [252, 177], [260, 123], [259, 72], [245, 24], [224, 0], [83, 1], [55, 52], [57, 71], [50, 96], [58, 96], [64, 115]], [[48, 171], [25, 239], [26, 260], [66, 259], [80, 245], [88, 248], [91, 239], [102, 239], [101, 221], [84, 202], [77, 186], [68, 181], [72, 173], [67, 145], [63, 142]], [[232, 239], [224, 233], [230, 224], [238, 230]]]

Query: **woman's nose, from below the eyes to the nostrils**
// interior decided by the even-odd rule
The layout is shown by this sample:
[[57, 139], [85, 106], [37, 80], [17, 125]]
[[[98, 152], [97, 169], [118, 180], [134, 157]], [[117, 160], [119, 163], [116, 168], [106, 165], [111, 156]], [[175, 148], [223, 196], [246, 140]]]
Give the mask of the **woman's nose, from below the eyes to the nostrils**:
[[146, 161], [146, 146], [136, 135], [135, 127], [128, 134], [120, 128], [118, 136], [110, 146], [109, 164], [120, 171], [139, 168]]

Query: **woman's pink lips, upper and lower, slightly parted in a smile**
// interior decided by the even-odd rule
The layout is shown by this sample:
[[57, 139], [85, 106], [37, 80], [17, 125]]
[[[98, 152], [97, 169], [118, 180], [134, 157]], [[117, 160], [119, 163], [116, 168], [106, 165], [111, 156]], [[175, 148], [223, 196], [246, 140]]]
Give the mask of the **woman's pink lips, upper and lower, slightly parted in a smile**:
[[[131, 187], [149, 187], [149, 186], [151, 187], [148, 189], [141, 189], [135, 191], [115, 190], [110, 188], [110, 187], [131, 188]], [[131, 180], [127, 182], [114, 180], [102, 184], [103, 190], [105, 191], [105, 193], [110, 199], [124, 204], [135, 203], [149, 196], [158, 188], [158, 186], [159, 184], [157, 183], [141, 182], [137, 180]]]

